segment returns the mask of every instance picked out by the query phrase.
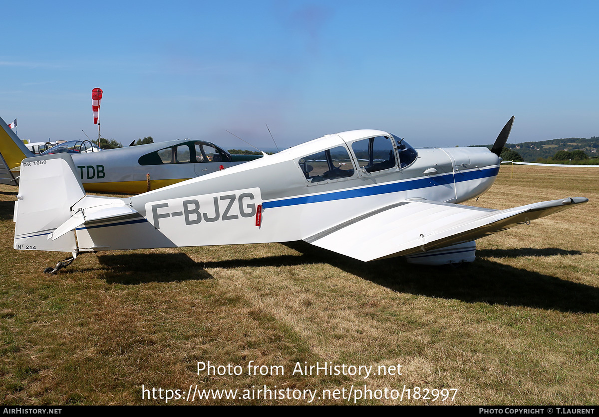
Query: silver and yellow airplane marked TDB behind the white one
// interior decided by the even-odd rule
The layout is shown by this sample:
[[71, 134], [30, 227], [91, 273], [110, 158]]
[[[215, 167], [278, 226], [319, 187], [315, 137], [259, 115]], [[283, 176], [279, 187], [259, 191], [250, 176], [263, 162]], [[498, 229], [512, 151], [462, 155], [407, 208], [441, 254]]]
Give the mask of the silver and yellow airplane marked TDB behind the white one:
[[[35, 156], [0, 118], [0, 183], [19, 185], [21, 161]], [[140, 194], [213, 173], [261, 156], [231, 155], [214, 143], [174, 140], [100, 150], [89, 140], [61, 143], [48, 153], [69, 153], [87, 192]], [[150, 184], [148, 184], [150, 182]]]

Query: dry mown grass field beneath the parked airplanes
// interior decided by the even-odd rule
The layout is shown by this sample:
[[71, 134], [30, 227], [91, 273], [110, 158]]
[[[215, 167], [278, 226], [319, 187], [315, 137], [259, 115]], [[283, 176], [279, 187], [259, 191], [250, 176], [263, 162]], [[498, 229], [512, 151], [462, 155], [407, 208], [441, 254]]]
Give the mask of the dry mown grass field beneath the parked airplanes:
[[[88, 254], [49, 276], [64, 255], [12, 249], [16, 189], [0, 186], [0, 403], [163, 404], [142, 385], [276, 385], [346, 404], [318, 397], [405, 385], [458, 391], [401, 404], [598, 404], [599, 170], [516, 165], [510, 179], [510, 169], [468, 204], [591, 201], [477, 241], [476, 262], [459, 268], [365, 264], [291, 243]], [[198, 375], [198, 361], [244, 373]], [[285, 374], [248, 375], [249, 361]], [[403, 374], [292, 375], [296, 362]]]

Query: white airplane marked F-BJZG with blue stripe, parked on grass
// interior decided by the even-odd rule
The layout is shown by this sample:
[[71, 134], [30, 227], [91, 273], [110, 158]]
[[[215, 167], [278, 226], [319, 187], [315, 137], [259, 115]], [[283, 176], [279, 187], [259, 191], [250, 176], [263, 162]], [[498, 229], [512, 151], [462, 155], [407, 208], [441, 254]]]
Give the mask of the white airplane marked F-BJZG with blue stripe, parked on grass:
[[388, 132], [341, 132], [130, 198], [86, 195], [70, 155], [25, 159], [14, 249], [72, 252], [50, 273], [84, 252], [294, 240], [361, 261], [471, 262], [477, 238], [588, 201], [458, 204], [491, 187], [512, 123], [491, 152], [416, 150]]

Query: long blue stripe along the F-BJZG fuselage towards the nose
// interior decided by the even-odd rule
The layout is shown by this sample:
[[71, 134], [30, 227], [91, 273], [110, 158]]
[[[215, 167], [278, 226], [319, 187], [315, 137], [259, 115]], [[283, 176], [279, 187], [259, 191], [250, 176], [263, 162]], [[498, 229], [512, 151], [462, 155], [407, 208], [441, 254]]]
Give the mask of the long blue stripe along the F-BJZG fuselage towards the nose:
[[[487, 168], [485, 170], [467, 171], [455, 173], [455, 182], [464, 182], [488, 177], [495, 177], [499, 173], [499, 167]], [[367, 197], [377, 194], [388, 194], [390, 192], [409, 191], [418, 188], [435, 187], [438, 185], [451, 185], [453, 173], [438, 177], [419, 178], [404, 182], [382, 184], [372, 187], [356, 188], [345, 191], [329, 192], [328, 194], [307, 195], [304, 197], [288, 198], [287, 200], [265, 201], [262, 203], [264, 209], [274, 207], [297, 206], [298, 204], [320, 203], [322, 201], [344, 200], [346, 198]]]

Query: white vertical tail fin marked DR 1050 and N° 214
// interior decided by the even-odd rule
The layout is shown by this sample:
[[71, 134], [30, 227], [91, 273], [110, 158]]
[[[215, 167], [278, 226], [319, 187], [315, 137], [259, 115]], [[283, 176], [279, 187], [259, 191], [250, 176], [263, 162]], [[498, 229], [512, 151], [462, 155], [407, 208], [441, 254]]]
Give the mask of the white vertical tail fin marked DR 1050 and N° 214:
[[67, 153], [25, 159], [14, 207], [14, 249], [75, 252], [74, 231], [55, 240], [48, 236], [71, 218], [71, 207], [84, 196]]

